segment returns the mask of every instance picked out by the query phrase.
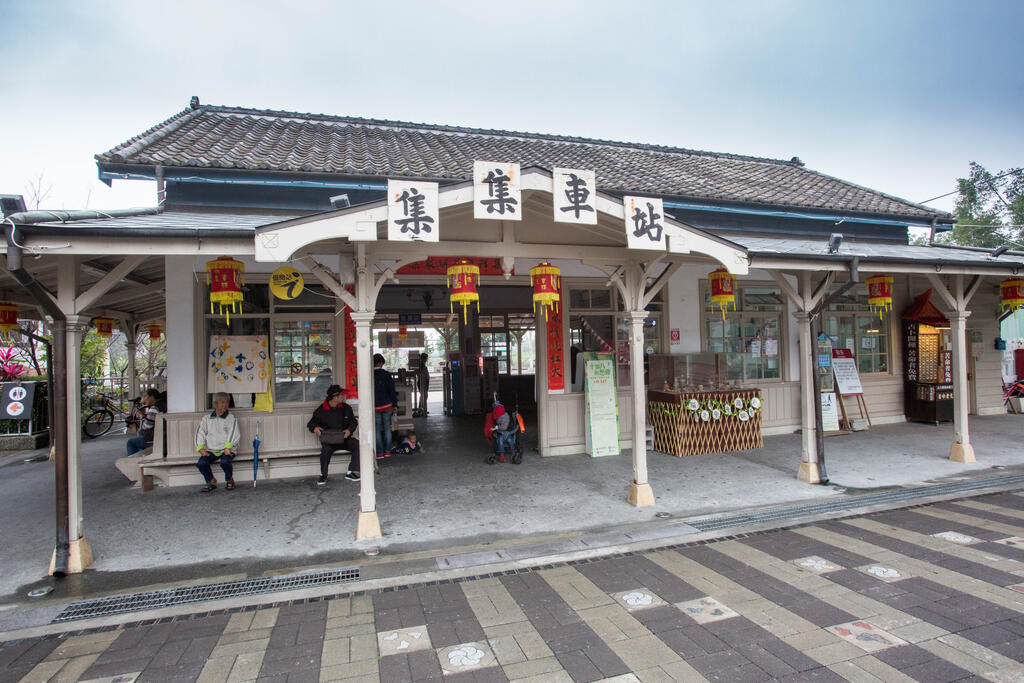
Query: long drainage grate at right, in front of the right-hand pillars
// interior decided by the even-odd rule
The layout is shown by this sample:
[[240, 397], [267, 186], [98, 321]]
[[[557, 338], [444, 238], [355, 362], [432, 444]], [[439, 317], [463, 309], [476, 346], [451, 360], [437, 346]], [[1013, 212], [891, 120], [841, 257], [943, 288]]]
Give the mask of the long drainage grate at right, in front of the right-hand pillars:
[[792, 519], [794, 517], [819, 515], [827, 512], [845, 512], [847, 510], [856, 510], [871, 505], [899, 503], [903, 501], [912, 501], [919, 498], [961, 494], [970, 490], [978, 490], [992, 486], [1008, 486], [1017, 483], [1024, 483], [1024, 474], [981, 477], [978, 479], [971, 479], [969, 481], [940, 483], [933, 486], [919, 486], [915, 488], [898, 488], [896, 490], [881, 494], [844, 497], [840, 500], [808, 503], [807, 505], [790, 505], [785, 507], [755, 510], [753, 512], [734, 515], [724, 515], [721, 517], [687, 519], [686, 523], [690, 526], [695, 526], [701, 531], [719, 531], [730, 526], [758, 524], [769, 521], [777, 521], [779, 519]]

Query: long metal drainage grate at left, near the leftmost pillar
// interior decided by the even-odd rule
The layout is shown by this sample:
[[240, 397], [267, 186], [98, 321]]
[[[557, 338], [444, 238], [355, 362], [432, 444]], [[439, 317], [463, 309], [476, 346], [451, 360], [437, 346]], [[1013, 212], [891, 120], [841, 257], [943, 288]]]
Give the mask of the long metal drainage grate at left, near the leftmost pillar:
[[340, 569], [308, 571], [281, 577], [227, 581], [222, 584], [207, 584], [206, 586], [169, 588], [162, 591], [148, 591], [146, 593], [112, 595], [95, 600], [73, 602], [62, 612], [57, 614], [51, 624], [73, 622], [80, 618], [92, 618], [95, 616], [108, 616], [111, 614], [123, 614], [142, 609], [159, 609], [160, 607], [170, 607], [189, 602], [203, 602], [204, 600], [219, 600], [244, 595], [287, 591], [296, 588], [327, 586], [355, 581], [358, 578], [359, 567], [343, 567]]

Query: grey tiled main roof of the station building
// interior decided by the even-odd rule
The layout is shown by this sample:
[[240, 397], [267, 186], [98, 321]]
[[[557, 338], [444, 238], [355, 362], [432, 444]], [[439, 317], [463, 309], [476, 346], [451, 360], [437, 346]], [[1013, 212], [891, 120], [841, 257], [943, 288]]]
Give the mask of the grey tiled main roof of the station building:
[[598, 186], [700, 202], [951, 222], [943, 212], [782, 161], [564, 135], [201, 104], [96, 156], [100, 165], [464, 180], [473, 160], [593, 168]]

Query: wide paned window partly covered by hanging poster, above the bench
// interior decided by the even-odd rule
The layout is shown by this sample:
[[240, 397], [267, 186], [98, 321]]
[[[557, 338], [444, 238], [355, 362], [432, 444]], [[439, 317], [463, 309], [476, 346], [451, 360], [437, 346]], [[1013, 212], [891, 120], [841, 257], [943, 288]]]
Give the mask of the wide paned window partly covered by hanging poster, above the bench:
[[243, 294], [242, 311], [231, 313], [230, 325], [219, 312], [207, 311], [207, 340], [213, 335], [266, 335], [273, 354], [274, 400], [323, 398], [335, 383], [335, 298], [324, 288], [308, 285], [290, 301], [271, 296], [265, 284], [249, 283]]

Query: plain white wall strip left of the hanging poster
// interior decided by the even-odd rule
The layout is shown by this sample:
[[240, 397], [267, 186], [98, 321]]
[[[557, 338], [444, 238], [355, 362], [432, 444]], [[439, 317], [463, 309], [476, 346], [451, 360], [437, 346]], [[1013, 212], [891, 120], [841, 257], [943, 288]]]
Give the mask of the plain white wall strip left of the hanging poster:
[[[191, 413], [197, 405], [196, 353], [196, 267], [191, 256], [165, 256], [165, 300], [167, 310], [167, 411]], [[204, 353], [203, 358], [206, 357]], [[204, 364], [205, 365], [205, 364]]]

